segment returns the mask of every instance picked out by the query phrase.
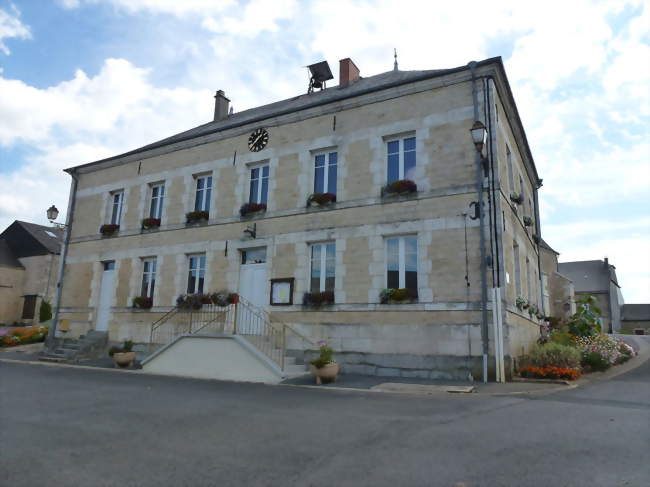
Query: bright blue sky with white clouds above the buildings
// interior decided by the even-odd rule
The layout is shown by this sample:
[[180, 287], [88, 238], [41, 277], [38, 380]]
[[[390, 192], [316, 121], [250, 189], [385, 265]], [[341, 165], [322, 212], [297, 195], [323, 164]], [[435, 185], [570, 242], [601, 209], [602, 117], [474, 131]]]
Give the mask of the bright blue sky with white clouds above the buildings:
[[[63, 168], [362, 76], [502, 56], [560, 261], [650, 302], [650, 1], [0, 0], [0, 229], [65, 214]], [[62, 220], [62, 217], [59, 217]]]

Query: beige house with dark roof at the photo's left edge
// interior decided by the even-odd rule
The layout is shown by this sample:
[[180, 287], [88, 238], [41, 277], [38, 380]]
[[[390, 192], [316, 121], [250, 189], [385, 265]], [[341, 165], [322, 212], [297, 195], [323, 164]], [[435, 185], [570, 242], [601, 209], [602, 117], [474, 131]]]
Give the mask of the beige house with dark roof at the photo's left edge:
[[0, 233], [0, 324], [38, 322], [56, 289], [62, 231], [15, 221]]

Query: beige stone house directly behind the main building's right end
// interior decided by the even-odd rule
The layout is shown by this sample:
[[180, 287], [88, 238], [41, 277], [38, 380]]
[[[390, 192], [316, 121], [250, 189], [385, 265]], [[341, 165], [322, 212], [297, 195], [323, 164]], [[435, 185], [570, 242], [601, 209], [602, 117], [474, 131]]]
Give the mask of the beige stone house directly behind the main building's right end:
[[558, 270], [559, 253], [541, 239], [539, 243], [542, 270], [542, 306], [544, 314], [567, 319], [576, 312], [573, 282]]

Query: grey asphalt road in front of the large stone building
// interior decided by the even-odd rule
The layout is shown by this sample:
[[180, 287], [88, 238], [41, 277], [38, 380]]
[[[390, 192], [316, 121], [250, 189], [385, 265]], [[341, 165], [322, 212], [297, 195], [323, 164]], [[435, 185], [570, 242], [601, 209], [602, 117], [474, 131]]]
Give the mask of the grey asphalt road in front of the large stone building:
[[650, 361], [543, 396], [0, 363], [4, 486], [650, 485]]

